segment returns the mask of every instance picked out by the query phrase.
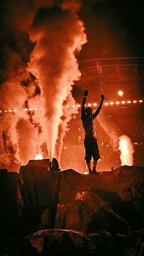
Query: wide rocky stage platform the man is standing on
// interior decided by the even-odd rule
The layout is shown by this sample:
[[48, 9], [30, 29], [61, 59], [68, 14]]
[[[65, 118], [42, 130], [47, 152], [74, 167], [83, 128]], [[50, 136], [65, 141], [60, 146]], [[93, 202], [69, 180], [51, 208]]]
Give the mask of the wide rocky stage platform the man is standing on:
[[0, 172], [2, 241], [17, 238], [23, 244], [23, 237], [40, 230], [58, 230], [60, 234], [71, 230], [84, 234], [85, 243], [94, 243], [94, 247], [101, 232], [109, 234], [105, 235], [112, 238], [114, 247], [122, 240], [132, 246], [134, 238], [130, 239], [129, 230], [141, 230], [136, 236], [138, 251], [143, 250], [143, 167], [122, 166], [111, 172], [83, 175], [72, 169], [48, 170], [41, 161], [21, 166], [20, 174], [4, 169]]

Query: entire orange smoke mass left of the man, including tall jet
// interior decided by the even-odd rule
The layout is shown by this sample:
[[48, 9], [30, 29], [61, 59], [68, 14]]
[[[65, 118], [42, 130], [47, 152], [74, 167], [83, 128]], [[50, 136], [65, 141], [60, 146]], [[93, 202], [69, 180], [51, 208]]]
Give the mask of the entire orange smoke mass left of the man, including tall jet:
[[74, 104], [71, 90], [81, 76], [76, 54], [86, 43], [79, 8], [79, 1], [1, 2], [1, 109], [17, 110], [2, 115], [5, 165], [26, 164], [43, 145], [50, 159], [54, 149], [60, 159], [77, 112], [65, 107]]

